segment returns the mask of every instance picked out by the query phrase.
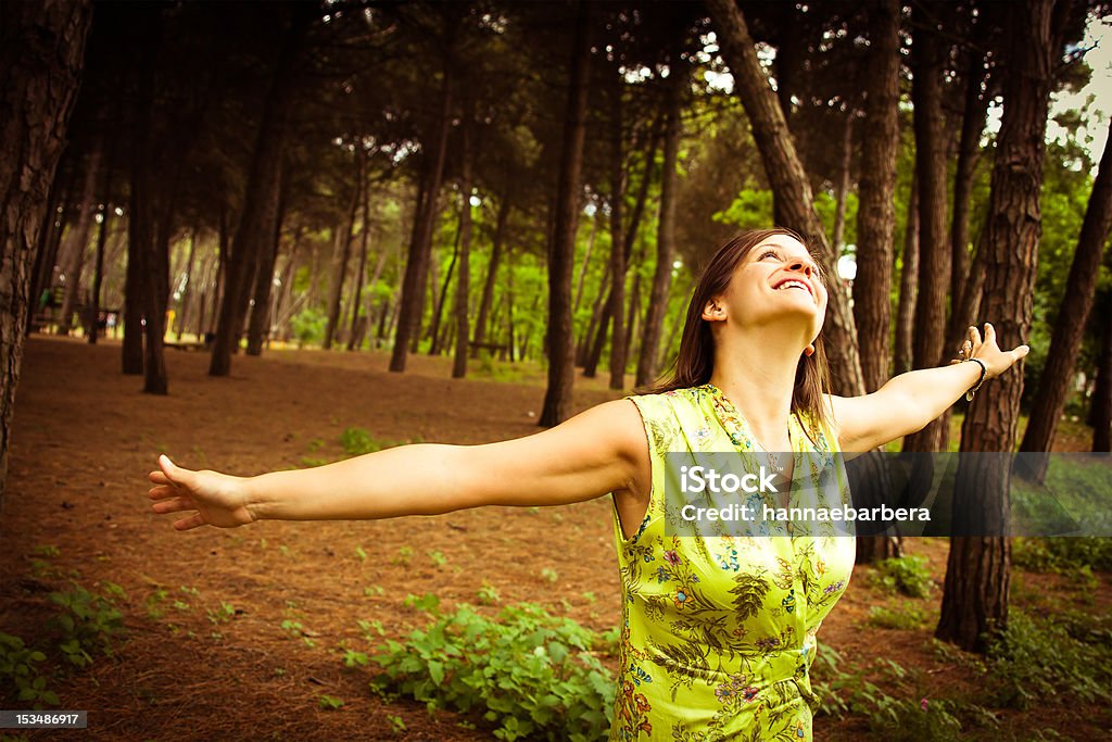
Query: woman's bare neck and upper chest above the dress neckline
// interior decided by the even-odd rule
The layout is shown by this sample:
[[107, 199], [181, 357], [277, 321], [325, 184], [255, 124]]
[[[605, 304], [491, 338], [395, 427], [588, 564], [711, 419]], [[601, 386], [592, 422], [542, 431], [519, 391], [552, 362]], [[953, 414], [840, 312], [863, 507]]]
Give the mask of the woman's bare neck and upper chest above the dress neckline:
[[792, 344], [757, 337], [733, 337], [715, 354], [711, 383], [734, 403], [759, 445], [791, 451], [787, 421], [800, 350]]

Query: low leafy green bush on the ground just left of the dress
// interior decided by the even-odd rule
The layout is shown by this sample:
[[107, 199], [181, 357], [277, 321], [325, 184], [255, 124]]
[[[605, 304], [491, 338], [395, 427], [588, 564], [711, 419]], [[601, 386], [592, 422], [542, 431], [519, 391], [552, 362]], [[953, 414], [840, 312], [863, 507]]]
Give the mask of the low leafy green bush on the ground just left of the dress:
[[369, 659], [345, 656], [349, 666], [373, 661], [383, 669], [371, 684], [378, 692], [430, 710], [483, 712], [500, 740], [605, 739], [614, 677], [592, 654], [594, 632], [532, 603], [508, 606], [496, 620], [469, 605], [439, 614], [434, 601], [409, 603], [430, 611], [428, 626], [405, 642], [387, 641]]

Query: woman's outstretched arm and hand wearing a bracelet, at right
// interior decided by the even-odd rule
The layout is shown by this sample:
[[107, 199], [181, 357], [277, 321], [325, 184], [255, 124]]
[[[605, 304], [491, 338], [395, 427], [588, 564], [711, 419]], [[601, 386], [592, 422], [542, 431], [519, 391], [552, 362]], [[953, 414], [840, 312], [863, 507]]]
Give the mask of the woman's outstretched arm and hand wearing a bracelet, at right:
[[[1029, 350], [1025, 345], [1001, 350], [996, 332], [987, 323], [984, 339], [976, 327], [970, 327], [969, 342], [966, 357], [985, 365], [985, 382], [1006, 372]], [[976, 385], [980, 377], [980, 364], [959, 363], [901, 374], [876, 392], [860, 397], [831, 395], [842, 451], [872, 451], [923, 429]]]

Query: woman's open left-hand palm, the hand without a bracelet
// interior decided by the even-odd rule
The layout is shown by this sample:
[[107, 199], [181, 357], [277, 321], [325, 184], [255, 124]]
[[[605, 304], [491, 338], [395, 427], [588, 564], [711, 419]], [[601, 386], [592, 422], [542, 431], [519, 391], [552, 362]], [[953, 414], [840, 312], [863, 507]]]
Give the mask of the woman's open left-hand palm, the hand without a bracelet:
[[158, 457], [158, 465], [159, 471], [149, 475], [156, 485], [150, 489], [150, 498], [155, 501], [151, 509], [156, 513], [196, 511], [175, 522], [173, 527], [178, 531], [200, 525], [235, 528], [256, 521], [249, 507], [245, 477], [181, 468], [166, 455]]

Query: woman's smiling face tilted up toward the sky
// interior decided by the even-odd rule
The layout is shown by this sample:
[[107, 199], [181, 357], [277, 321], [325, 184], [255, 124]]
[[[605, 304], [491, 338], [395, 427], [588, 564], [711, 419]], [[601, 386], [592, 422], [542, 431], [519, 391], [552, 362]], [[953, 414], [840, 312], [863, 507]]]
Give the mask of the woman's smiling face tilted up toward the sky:
[[728, 319], [745, 326], [796, 319], [810, 343], [826, 317], [827, 294], [807, 248], [788, 235], [772, 235], [737, 266], [721, 301]]

